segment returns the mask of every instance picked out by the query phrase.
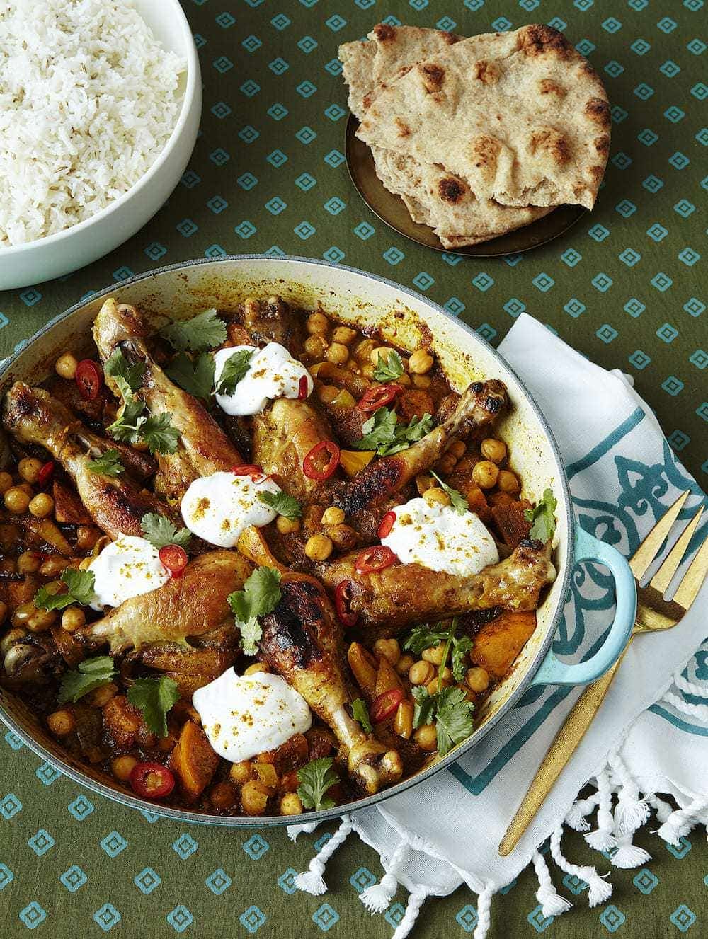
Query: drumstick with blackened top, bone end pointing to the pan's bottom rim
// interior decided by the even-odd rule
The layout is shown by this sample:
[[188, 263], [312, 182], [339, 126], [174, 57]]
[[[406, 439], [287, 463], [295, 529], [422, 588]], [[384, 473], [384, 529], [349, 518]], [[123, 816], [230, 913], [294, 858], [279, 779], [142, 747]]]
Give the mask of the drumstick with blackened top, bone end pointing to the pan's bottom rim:
[[261, 620], [260, 657], [299, 691], [340, 743], [349, 774], [367, 793], [377, 793], [403, 772], [394, 749], [379, 743], [351, 717], [341, 627], [327, 594], [314, 577], [281, 580], [281, 601]]

